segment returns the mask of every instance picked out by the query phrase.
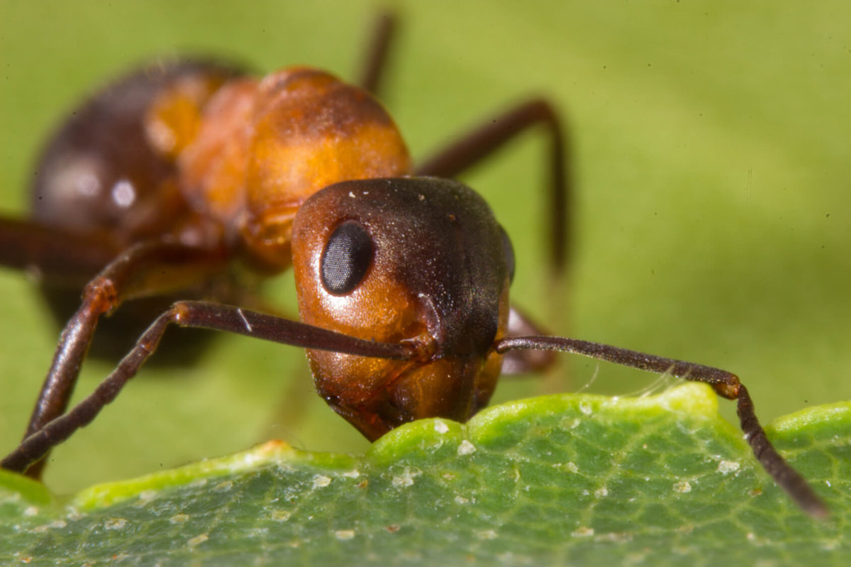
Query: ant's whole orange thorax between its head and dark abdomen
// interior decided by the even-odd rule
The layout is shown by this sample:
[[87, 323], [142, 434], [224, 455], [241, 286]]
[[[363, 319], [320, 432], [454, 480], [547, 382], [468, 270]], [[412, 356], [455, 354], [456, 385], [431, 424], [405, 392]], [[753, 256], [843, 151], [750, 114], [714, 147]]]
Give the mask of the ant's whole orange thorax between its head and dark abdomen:
[[176, 153], [191, 208], [226, 226], [227, 238], [272, 271], [289, 265], [293, 218], [313, 193], [411, 173], [408, 148], [380, 103], [326, 72], [289, 67], [208, 94], [197, 79], [168, 89], [152, 106], [149, 123], [158, 127], [149, 132]]

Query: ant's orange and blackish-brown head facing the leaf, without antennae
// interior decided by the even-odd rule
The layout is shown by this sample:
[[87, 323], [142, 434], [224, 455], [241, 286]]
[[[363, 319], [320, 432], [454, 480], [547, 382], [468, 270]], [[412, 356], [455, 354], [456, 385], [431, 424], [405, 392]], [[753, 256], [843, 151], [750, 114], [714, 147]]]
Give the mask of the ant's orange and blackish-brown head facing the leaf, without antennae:
[[463, 421], [487, 403], [513, 257], [476, 192], [437, 178], [328, 186], [295, 218], [293, 265], [306, 323], [424, 353], [308, 352], [319, 392], [368, 438], [425, 415]]

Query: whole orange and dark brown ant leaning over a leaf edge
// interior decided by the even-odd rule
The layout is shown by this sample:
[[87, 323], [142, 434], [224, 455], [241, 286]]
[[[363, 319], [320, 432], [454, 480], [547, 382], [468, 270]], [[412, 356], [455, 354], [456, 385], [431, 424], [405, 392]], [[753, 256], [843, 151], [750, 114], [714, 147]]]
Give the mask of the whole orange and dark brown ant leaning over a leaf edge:
[[[0, 466], [40, 478], [49, 451], [117, 397], [174, 324], [305, 348], [319, 395], [370, 440], [420, 418], [465, 421], [500, 372], [544, 369], [549, 352], [705, 382], [737, 401], [745, 437], [777, 484], [825, 517], [736, 375], [542, 335], [510, 305], [511, 240], [488, 204], [451, 178], [544, 126], [559, 271], [568, 261], [567, 129], [546, 100], [529, 100], [414, 167], [372, 94], [392, 31], [391, 18], [380, 20], [358, 87], [309, 67], [258, 80], [220, 63], [167, 62], [111, 83], [60, 128], [38, 168], [31, 219], [0, 219], [0, 262], [37, 269], [57, 313], [67, 289], [82, 287], [83, 297], [24, 438]], [[290, 265], [302, 321], [249, 309], [241, 278]], [[128, 301], [116, 319], [149, 325], [68, 409], [100, 318]]]

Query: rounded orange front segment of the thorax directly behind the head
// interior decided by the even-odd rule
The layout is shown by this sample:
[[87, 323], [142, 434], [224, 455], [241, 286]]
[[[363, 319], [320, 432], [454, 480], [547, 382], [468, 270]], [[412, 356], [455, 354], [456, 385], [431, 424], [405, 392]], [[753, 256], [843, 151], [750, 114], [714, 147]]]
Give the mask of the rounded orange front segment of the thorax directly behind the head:
[[288, 265], [295, 210], [308, 196], [341, 180], [410, 173], [408, 148], [384, 107], [326, 72], [272, 73], [252, 105], [243, 235], [273, 268]]

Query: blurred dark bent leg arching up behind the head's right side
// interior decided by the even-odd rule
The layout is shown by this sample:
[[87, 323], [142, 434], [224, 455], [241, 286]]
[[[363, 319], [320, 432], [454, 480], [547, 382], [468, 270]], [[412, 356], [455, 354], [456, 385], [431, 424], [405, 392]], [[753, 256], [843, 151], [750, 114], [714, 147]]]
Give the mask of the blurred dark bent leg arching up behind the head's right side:
[[471, 133], [426, 160], [416, 169], [416, 174], [455, 177], [539, 124], [546, 127], [551, 138], [550, 204], [547, 207], [550, 215], [550, 255], [552, 266], [561, 273], [570, 263], [566, 244], [571, 235], [567, 207], [573, 198], [573, 185], [568, 157], [568, 128], [549, 102], [544, 99], [528, 100], [480, 124]]

